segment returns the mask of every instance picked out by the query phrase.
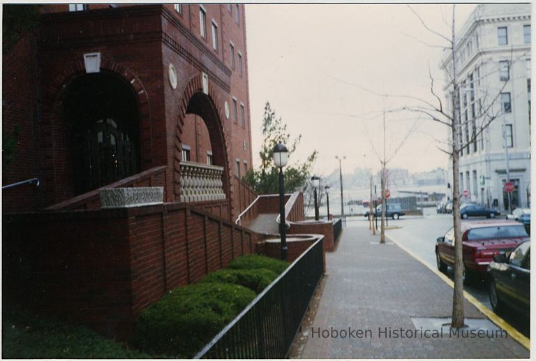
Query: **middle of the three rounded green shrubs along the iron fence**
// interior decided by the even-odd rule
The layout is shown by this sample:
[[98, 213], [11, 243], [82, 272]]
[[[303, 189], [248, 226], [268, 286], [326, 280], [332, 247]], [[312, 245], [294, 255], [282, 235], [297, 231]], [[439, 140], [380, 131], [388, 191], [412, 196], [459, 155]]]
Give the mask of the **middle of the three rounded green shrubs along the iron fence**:
[[247, 287], [259, 294], [276, 279], [276, 272], [260, 268], [258, 270], [229, 270], [223, 269], [212, 272], [204, 277], [201, 282], [234, 283]]

